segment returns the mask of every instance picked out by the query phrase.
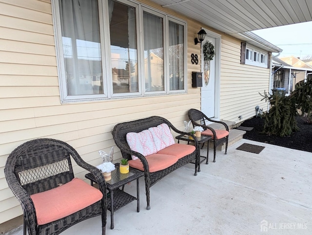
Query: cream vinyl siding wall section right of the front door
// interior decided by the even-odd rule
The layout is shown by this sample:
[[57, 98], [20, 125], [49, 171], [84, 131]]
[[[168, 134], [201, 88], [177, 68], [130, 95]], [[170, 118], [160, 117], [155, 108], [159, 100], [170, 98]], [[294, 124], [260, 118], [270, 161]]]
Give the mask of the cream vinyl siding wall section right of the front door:
[[259, 95], [269, 89], [269, 69], [240, 64], [241, 41], [222, 35], [220, 117], [224, 120], [246, 120], [255, 115], [255, 106], [267, 110], [267, 104]]

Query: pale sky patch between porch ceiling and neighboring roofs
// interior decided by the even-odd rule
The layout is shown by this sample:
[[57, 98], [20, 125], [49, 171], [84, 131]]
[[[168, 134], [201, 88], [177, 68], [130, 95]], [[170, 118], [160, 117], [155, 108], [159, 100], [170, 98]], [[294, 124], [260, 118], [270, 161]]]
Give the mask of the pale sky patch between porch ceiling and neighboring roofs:
[[312, 21], [254, 30], [253, 33], [283, 49], [279, 57], [312, 57]]

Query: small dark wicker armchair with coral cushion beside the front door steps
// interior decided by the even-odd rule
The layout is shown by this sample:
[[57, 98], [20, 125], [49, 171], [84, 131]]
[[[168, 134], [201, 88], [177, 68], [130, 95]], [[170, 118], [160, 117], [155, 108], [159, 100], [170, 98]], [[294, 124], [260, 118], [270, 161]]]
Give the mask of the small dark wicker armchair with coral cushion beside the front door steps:
[[[214, 142], [214, 162], [215, 162], [215, 152], [216, 147], [225, 142], [225, 153], [227, 154], [228, 142], [229, 142], [229, 127], [222, 121], [216, 121], [207, 117], [204, 113], [196, 109], [190, 109], [188, 112], [189, 118], [192, 121], [193, 127], [201, 126], [204, 128], [202, 135], [211, 136], [212, 138], [209, 141]], [[208, 126], [208, 122], [215, 122], [224, 125], [225, 130], [215, 130]], [[207, 124], [206, 124], [207, 123]], [[203, 147], [203, 146], [202, 146]], [[209, 147], [209, 146], [208, 146]], [[208, 161], [208, 158], [207, 158]], [[208, 162], [206, 162], [208, 164]]]

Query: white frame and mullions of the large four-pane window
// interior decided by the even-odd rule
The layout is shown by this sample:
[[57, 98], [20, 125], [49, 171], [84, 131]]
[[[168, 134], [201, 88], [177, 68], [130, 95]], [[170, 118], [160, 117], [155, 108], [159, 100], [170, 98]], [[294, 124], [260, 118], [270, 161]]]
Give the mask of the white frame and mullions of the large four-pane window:
[[[95, 95], [67, 95], [67, 85], [65, 76], [65, 63], [63, 58], [62, 36], [60, 28], [59, 1], [52, 0], [52, 16], [55, 33], [55, 45], [57, 53], [59, 90], [61, 103], [72, 103], [81, 101], [105, 100], [114, 98], [135, 98], [155, 95], [181, 94], [187, 92], [187, 22], [179, 18], [168, 15], [156, 10], [150, 6], [139, 3], [135, 0], [117, 0], [121, 3], [136, 8], [136, 34], [137, 34], [137, 63], [144, 63], [144, 45], [143, 45], [143, 11], [163, 18], [163, 37], [164, 37], [164, 91], [145, 91], [144, 66], [138, 66], [138, 92], [113, 94], [112, 63], [110, 50], [110, 34], [108, 20], [108, 2], [107, 0], [98, 0], [98, 16], [100, 27], [101, 59], [102, 59], [102, 80], [103, 93]], [[170, 90], [169, 79], [169, 20], [184, 26], [184, 89]]]

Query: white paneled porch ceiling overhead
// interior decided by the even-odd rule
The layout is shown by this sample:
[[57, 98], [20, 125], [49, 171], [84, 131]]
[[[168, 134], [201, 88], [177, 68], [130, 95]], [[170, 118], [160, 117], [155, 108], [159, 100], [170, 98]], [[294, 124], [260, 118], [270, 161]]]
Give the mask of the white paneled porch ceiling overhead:
[[256, 29], [312, 21], [312, 0], [151, 1], [233, 36]]

